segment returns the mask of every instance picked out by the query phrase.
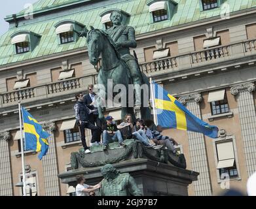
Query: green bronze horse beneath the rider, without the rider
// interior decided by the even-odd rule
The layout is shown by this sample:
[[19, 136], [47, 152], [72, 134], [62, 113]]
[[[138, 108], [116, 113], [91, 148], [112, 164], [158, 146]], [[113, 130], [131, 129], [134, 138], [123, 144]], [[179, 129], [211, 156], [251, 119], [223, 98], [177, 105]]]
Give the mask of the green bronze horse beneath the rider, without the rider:
[[[99, 98], [106, 99], [109, 95], [122, 95], [123, 91], [114, 92], [113, 89], [117, 84], [122, 84], [126, 88], [125, 101], [120, 101], [122, 103], [122, 119], [126, 114], [132, 114], [132, 117], [135, 119], [134, 115], [134, 106], [129, 105], [130, 101], [134, 101], [134, 93], [132, 93], [133, 98], [128, 95], [128, 86], [132, 84], [131, 76], [129, 69], [126, 67], [126, 64], [122, 59], [120, 59], [119, 52], [115, 48], [115, 43], [107, 35], [105, 31], [100, 29], [94, 29], [91, 27], [91, 30], [88, 31], [86, 35], [87, 46], [88, 46], [88, 56], [90, 63], [92, 65], [97, 65], [99, 57], [102, 57], [101, 69], [98, 74], [98, 96]], [[144, 120], [151, 119], [151, 112], [149, 109], [149, 80], [147, 76], [141, 72], [141, 77], [143, 78], [143, 86], [147, 88], [147, 91], [143, 90], [141, 93], [141, 118]], [[109, 79], [113, 82], [113, 88], [110, 88], [110, 91], [107, 92]], [[98, 110], [99, 118], [103, 118], [103, 109], [102, 109], [102, 100], [98, 99]]]

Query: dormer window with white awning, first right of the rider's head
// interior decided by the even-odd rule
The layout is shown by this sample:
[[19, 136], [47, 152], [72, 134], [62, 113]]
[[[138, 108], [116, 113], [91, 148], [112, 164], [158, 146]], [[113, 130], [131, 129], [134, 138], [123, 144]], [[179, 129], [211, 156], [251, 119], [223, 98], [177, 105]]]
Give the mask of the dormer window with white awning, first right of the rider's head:
[[172, 0], [157, 1], [151, 0], [147, 3], [151, 12], [151, 23], [170, 20], [174, 14], [177, 3]]

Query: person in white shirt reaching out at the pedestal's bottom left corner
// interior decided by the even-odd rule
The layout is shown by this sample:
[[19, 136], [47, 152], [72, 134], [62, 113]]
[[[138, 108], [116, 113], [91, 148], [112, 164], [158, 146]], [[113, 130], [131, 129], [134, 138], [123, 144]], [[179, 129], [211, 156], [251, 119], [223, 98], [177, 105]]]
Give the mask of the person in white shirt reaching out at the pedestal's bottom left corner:
[[101, 187], [101, 182], [96, 185], [87, 185], [84, 184], [85, 178], [84, 176], [77, 176], [77, 186], [75, 187], [75, 193], [77, 196], [87, 196], [86, 193], [90, 193], [91, 191], [95, 191]]

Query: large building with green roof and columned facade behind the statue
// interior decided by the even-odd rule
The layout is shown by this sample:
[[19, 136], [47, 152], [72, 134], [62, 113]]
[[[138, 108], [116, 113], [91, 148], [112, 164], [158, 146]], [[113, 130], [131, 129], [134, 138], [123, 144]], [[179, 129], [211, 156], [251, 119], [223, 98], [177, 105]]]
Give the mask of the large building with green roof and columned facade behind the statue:
[[[111, 27], [113, 10], [136, 29], [141, 71], [221, 130], [217, 139], [164, 131], [179, 142], [187, 169], [200, 172], [189, 195], [218, 195], [229, 187], [245, 193], [256, 171], [255, 1], [39, 0], [7, 16], [10, 28], [0, 38], [0, 195], [22, 195], [15, 186], [22, 180], [19, 100], [52, 135], [42, 161], [26, 151], [32, 194], [67, 195], [57, 174], [69, 170], [70, 153], [82, 148], [74, 95], [87, 92], [98, 74], [86, 39], [75, 31]], [[119, 109], [108, 111], [121, 119]]]

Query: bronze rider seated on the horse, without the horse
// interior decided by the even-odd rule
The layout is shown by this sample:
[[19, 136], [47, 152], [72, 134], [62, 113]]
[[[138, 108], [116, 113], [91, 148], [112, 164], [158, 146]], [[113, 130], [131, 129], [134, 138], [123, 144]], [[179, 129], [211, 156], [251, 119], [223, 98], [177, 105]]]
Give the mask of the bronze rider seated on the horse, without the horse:
[[137, 42], [135, 39], [134, 27], [128, 25], [122, 25], [122, 14], [115, 10], [110, 16], [113, 27], [107, 29], [107, 33], [115, 42], [117, 51], [120, 54], [120, 58], [126, 63], [130, 70], [132, 82], [135, 89], [135, 105], [140, 106], [140, 86], [142, 84], [141, 72], [137, 65], [137, 60], [130, 54], [130, 48], [136, 48]]

